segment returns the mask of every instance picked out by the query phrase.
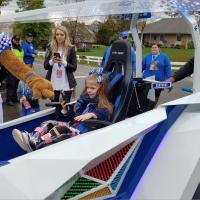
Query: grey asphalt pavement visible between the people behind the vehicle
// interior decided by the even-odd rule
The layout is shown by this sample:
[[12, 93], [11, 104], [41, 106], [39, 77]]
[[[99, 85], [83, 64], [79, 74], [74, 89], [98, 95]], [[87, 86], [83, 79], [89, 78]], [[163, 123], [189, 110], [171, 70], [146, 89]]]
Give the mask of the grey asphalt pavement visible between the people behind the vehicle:
[[[43, 61], [41, 60], [36, 60], [34, 63], [34, 70], [40, 74], [41, 76], [45, 77], [46, 75], [46, 70], [43, 67]], [[84, 80], [85, 77], [88, 75], [89, 70], [91, 69], [91, 67], [88, 66], [84, 66], [84, 65], [78, 65], [77, 71], [75, 72], [75, 77], [77, 80], [77, 87], [76, 87], [76, 92], [75, 92], [75, 96], [72, 100], [77, 99], [80, 94], [81, 91], [83, 90], [84, 87]], [[173, 90], [171, 92], [167, 92], [167, 91], [163, 91], [161, 93], [160, 96], [160, 100], [158, 102], [158, 104], [162, 104], [171, 100], [175, 100], [178, 99], [180, 97], [186, 96], [188, 95], [187, 92], [183, 92], [181, 91], [181, 87], [185, 86], [185, 87], [192, 87], [192, 78], [191, 77], [187, 77], [184, 80], [175, 83], [173, 86]], [[16, 103], [14, 106], [8, 106], [5, 103], [5, 96], [6, 96], [6, 91], [2, 90], [2, 97], [4, 100], [3, 103], [3, 111], [4, 111], [4, 122], [16, 119], [20, 117], [20, 104]], [[41, 106], [41, 110], [47, 109], [48, 107], [45, 106], [45, 103], [50, 102], [50, 100], [43, 100], [40, 99], [40, 106]]]

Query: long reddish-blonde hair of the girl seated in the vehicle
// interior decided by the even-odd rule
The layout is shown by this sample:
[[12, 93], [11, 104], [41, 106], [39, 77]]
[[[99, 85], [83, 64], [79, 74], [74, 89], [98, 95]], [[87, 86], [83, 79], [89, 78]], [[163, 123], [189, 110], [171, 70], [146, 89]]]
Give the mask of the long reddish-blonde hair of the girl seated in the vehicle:
[[98, 108], [107, 108], [109, 110], [110, 114], [112, 114], [113, 105], [108, 100], [108, 95], [109, 95], [109, 91], [110, 91], [108, 88], [108, 80], [107, 80], [105, 74], [103, 74], [102, 77], [103, 77], [102, 83], [98, 83], [97, 82], [98, 74], [97, 73], [91, 74], [85, 81], [85, 88], [84, 88], [81, 96], [87, 95], [87, 88], [86, 88], [87, 81], [92, 81], [92, 82], [94, 81], [94, 83], [100, 84], [100, 88], [99, 88], [98, 94], [97, 94]]

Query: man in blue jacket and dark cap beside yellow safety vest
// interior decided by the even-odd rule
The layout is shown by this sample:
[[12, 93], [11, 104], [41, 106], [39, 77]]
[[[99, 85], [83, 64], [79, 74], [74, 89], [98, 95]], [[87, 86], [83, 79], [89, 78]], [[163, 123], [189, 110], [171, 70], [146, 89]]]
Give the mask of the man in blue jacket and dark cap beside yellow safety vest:
[[37, 55], [37, 50], [35, 50], [35, 47], [33, 45], [33, 35], [32, 33], [28, 33], [26, 35], [26, 41], [22, 44], [22, 48], [24, 51], [24, 63], [29, 65], [30, 67], [33, 66], [33, 62], [35, 59], [35, 56]]

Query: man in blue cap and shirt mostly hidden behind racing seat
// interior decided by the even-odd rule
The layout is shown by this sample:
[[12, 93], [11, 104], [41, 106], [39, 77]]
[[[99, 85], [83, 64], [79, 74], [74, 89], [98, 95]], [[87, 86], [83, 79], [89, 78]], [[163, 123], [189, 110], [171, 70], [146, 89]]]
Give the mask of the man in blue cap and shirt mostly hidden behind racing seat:
[[[127, 40], [127, 39], [128, 39], [128, 32], [119, 33], [119, 40]], [[109, 55], [110, 55], [111, 47], [112, 47], [112, 45], [110, 45], [104, 52], [100, 67], [105, 67], [105, 65], [108, 61]], [[136, 57], [135, 57], [135, 51], [134, 51], [133, 47], [131, 47], [131, 59], [132, 59], [131, 63], [132, 63], [133, 71], [135, 72]]]

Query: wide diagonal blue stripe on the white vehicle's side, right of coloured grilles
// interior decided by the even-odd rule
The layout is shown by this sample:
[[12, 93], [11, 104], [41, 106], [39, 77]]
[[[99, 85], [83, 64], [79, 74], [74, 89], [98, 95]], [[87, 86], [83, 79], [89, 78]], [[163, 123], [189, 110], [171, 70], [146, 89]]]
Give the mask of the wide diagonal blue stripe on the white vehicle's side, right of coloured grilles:
[[167, 107], [167, 119], [161, 122], [157, 128], [145, 135], [117, 195], [108, 199], [121, 200], [131, 198], [162, 139], [186, 106], [187, 105], [177, 105]]

